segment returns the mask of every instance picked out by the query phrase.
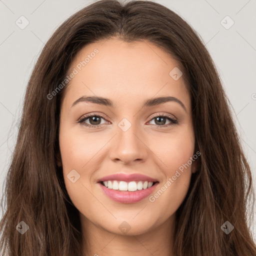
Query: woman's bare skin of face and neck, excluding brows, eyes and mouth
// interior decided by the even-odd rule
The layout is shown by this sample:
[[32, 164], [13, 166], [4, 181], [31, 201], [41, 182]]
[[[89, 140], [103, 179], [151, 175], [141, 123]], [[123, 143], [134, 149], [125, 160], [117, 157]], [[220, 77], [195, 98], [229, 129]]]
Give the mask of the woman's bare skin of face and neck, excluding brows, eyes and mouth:
[[[60, 160], [67, 192], [80, 212], [85, 255], [172, 255], [175, 212], [184, 200], [192, 162], [157, 198], [120, 203], [107, 197], [96, 180], [113, 173], [142, 173], [159, 181], [153, 194], [194, 154], [190, 97], [183, 77], [169, 72], [179, 67], [165, 51], [148, 41], [127, 43], [117, 38], [84, 46], [69, 71], [95, 48], [99, 52], [69, 82], [60, 109]], [[181, 67], [179, 67], [181, 69]], [[72, 103], [81, 96], [101, 96], [113, 107], [91, 102]], [[145, 99], [173, 96], [174, 101], [142, 108]], [[88, 113], [102, 114], [99, 128], [78, 120]], [[156, 116], [170, 114], [177, 120], [161, 128]], [[127, 131], [118, 123], [126, 118]], [[95, 125], [87, 118], [87, 124]], [[99, 123], [99, 122], [98, 122]], [[171, 123], [167, 118], [163, 124]], [[67, 174], [80, 177], [72, 183]], [[118, 226], [126, 221], [127, 233]]]

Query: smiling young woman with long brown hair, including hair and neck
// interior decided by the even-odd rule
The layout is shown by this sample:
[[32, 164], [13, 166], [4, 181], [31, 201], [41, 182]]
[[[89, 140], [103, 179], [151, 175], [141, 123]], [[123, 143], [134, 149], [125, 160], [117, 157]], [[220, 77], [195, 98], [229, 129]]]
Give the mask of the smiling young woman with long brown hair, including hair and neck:
[[103, 0], [76, 12], [28, 82], [2, 254], [255, 255], [227, 101], [173, 11]]

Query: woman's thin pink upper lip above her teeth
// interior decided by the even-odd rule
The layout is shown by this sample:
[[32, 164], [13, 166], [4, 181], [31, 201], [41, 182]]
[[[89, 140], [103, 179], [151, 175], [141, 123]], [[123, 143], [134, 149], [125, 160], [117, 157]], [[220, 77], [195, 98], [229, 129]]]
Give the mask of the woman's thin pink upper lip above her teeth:
[[97, 182], [106, 181], [106, 180], [119, 180], [119, 181], [123, 180], [123, 181], [126, 181], [126, 182], [139, 181], [139, 180], [141, 180], [141, 181], [151, 181], [151, 182], [158, 181], [154, 178], [148, 177], [148, 176], [140, 174], [140, 173], [132, 173], [132, 174], [115, 173], [115, 174], [111, 174], [111, 175], [107, 175], [107, 176], [104, 176], [102, 178], [99, 178], [97, 180]]

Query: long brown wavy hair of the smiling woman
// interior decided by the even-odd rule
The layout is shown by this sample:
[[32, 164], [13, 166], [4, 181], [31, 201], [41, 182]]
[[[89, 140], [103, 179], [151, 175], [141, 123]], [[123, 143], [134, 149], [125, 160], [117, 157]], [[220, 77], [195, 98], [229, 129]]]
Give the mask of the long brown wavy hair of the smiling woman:
[[[78, 210], [56, 164], [66, 87], [50, 99], [47, 95], [63, 81], [84, 45], [111, 37], [148, 40], [163, 48], [179, 61], [190, 93], [195, 151], [201, 156], [176, 211], [174, 255], [256, 255], [247, 222], [254, 199], [251, 171], [209, 53], [196, 32], [168, 8], [151, 1], [116, 0], [94, 2], [69, 17], [35, 64], [3, 193], [1, 255], [81, 254]], [[20, 221], [29, 227], [24, 234], [16, 230]], [[221, 230], [225, 221], [234, 226], [229, 234]]]

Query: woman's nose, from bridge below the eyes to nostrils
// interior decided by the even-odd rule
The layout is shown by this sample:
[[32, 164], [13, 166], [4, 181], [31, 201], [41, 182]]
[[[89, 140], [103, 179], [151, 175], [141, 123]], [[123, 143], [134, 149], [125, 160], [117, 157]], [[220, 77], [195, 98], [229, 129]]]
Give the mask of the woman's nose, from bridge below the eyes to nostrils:
[[126, 131], [117, 127], [117, 134], [111, 142], [109, 157], [112, 161], [123, 164], [145, 161], [149, 148], [146, 138], [138, 131], [136, 125], [131, 125]]

